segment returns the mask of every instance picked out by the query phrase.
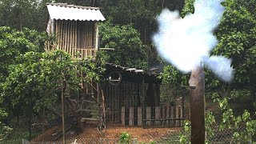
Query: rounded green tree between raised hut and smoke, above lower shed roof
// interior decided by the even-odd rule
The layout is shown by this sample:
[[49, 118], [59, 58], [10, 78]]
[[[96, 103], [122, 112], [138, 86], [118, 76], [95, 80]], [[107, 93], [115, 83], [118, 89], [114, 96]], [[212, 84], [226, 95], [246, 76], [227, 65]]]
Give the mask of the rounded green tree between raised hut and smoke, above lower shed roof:
[[101, 46], [114, 48], [106, 50], [108, 62], [121, 66], [146, 69], [148, 67], [146, 46], [142, 44], [138, 31], [130, 25], [111, 25], [110, 22], [100, 25]]

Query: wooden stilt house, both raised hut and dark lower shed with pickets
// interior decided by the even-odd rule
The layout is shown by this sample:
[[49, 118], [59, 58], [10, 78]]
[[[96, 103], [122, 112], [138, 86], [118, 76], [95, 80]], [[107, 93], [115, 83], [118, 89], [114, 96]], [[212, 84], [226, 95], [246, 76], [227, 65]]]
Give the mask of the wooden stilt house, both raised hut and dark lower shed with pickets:
[[[105, 20], [100, 10], [63, 3], [50, 3], [47, 8], [50, 14], [47, 32], [53, 41], [46, 43], [46, 50], [65, 50], [74, 58], [94, 56], [98, 50], [97, 22]], [[120, 122], [124, 126], [182, 126], [181, 106], [160, 106], [161, 80], [157, 77], [158, 74], [144, 70], [107, 63], [102, 90], [98, 90], [97, 84], [97, 90], [91, 93], [102, 94], [102, 99], [98, 99], [99, 109], [94, 111], [103, 108], [104, 122]], [[88, 98], [91, 96], [87, 94]], [[81, 110], [93, 111], [88, 106]]]

